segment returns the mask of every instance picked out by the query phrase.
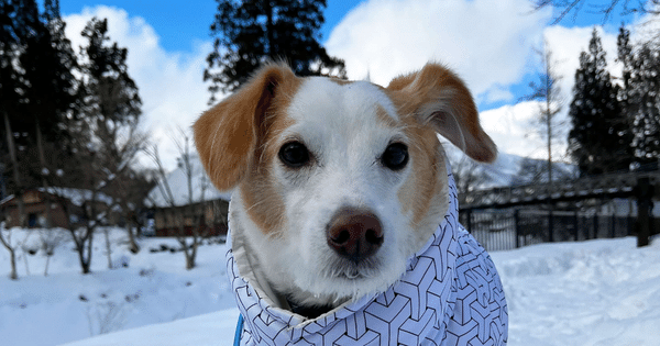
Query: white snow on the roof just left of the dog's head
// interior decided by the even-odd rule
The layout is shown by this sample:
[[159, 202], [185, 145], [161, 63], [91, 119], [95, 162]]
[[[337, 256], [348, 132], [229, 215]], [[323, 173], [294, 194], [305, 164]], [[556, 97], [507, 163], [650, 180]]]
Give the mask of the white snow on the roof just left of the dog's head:
[[[221, 192], [213, 187], [206, 174], [206, 170], [201, 166], [199, 156], [193, 155], [190, 157], [190, 166], [193, 174], [193, 203], [200, 202], [202, 199], [206, 201], [217, 199], [229, 201], [231, 199], [231, 191]], [[186, 169], [179, 165], [177, 169], [167, 175], [166, 180], [173, 194], [174, 204], [177, 207], [190, 204], [190, 199], [188, 198], [190, 193], [188, 191], [188, 178], [186, 175]], [[157, 208], [172, 207], [169, 199], [166, 198], [168, 194], [166, 191], [167, 187], [164, 183], [158, 182], [158, 186], [154, 187], [148, 192], [146, 200], [144, 201], [145, 204], [147, 207]]]

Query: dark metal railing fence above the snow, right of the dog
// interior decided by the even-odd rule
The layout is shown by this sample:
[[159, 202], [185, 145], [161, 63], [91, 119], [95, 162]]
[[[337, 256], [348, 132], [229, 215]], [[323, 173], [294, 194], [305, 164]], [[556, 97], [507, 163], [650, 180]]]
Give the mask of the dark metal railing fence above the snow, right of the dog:
[[632, 235], [635, 216], [539, 210], [470, 210], [460, 221], [487, 250], [549, 242], [576, 242]]

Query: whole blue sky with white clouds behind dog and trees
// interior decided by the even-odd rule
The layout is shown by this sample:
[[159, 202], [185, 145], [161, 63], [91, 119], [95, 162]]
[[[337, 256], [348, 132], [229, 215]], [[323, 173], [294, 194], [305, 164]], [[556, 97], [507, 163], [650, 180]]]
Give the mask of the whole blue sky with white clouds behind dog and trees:
[[[592, 1], [593, 2], [593, 1]], [[346, 62], [349, 78], [367, 75], [381, 85], [395, 76], [439, 60], [463, 77], [477, 102], [484, 129], [502, 152], [542, 157], [544, 144], [530, 127], [538, 112], [521, 102], [538, 70], [534, 54], [543, 40], [552, 49], [563, 76], [564, 113], [570, 103], [578, 57], [588, 44], [594, 25], [608, 51], [613, 75], [619, 11], [603, 23], [594, 10], [583, 8], [552, 25], [553, 10], [530, 11], [529, 0], [330, 0], [321, 33], [333, 56]], [[110, 37], [129, 48], [129, 71], [144, 102], [144, 130], [164, 152], [177, 155], [169, 137], [188, 129], [208, 107], [201, 80], [211, 51], [209, 26], [213, 0], [135, 1], [62, 0], [67, 35], [74, 46], [92, 15], [109, 18]], [[565, 153], [565, 143], [557, 144]]]

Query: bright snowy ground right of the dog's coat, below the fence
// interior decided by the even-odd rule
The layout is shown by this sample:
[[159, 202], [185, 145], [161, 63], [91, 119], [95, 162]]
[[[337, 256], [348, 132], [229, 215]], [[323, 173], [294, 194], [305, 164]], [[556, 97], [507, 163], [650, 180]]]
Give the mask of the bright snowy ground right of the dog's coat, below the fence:
[[660, 241], [542, 244], [492, 257], [509, 345], [660, 345]]

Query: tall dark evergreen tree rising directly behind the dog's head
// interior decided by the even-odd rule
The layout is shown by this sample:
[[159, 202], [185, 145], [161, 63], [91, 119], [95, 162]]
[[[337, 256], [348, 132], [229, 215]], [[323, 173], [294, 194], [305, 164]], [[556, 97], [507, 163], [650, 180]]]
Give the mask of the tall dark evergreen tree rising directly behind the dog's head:
[[215, 49], [204, 79], [219, 91], [233, 91], [262, 64], [286, 60], [297, 75], [345, 77], [343, 60], [320, 45], [326, 0], [217, 0], [211, 24]]

